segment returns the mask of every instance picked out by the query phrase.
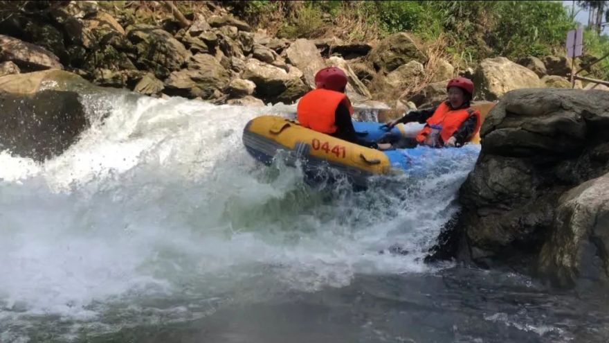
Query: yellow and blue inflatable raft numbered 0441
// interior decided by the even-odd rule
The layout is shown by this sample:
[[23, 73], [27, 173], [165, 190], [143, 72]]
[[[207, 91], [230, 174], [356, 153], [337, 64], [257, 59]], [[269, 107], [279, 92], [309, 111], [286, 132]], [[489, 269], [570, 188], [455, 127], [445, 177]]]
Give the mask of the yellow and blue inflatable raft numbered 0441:
[[[487, 112], [488, 109], [482, 113], [483, 118]], [[382, 126], [382, 123], [354, 122], [358, 135], [367, 141], [377, 141], [387, 134], [388, 131]], [[399, 124], [391, 132], [404, 135], [406, 127]], [[479, 141], [477, 136], [471, 143]], [[412, 167], [419, 155], [430, 149], [381, 151], [365, 148], [302, 127], [298, 121], [271, 115], [249, 121], [244, 128], [243, 143], [249, 154], [264, 164], [271, 164], [278, 152], [284, 151], [287, 164], [293, 166], [296, 161], [302, 161], [305, 175], [309, 177], [314, 178], [329, 167], [361, 187], [367, 186], [367, 179], [373, 175], [403, 173]], [[404, 150], [409, 151], [405, 153]]]

